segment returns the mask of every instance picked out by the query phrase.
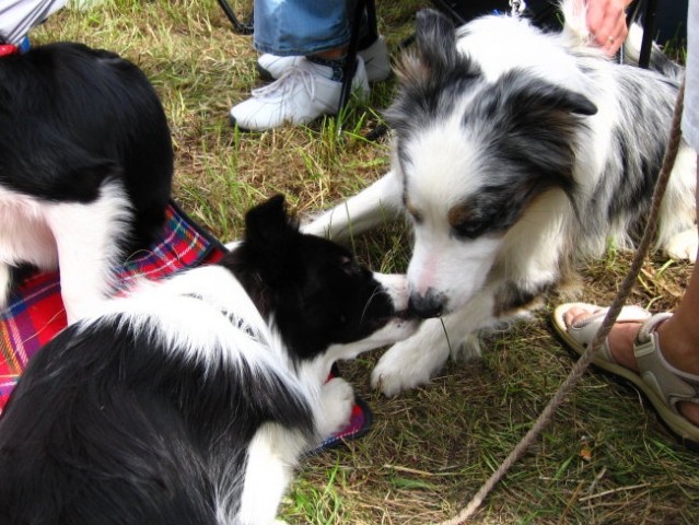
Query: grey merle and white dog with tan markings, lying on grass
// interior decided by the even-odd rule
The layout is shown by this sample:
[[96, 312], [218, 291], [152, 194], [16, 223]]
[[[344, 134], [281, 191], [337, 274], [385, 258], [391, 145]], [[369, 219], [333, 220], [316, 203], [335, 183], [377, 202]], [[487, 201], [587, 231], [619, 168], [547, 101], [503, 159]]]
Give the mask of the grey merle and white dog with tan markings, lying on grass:
[[[421, 12], [387, 112], [392, 171], [304, 229], [341, 240], [409, 217], [410, 305], [442, 318], [382, 357], [372, 383], [386, 395], [428, 382], [450, 351], [479, 353], [479, 330], [540, 304], [610, 237], [628, 245], [648, 214], [681, 69], [614, 63], [587, 45], [584, 2], [562, 10], [561, 33]], [[676, 257], [697, 249], [695, 155], [681, 144], [660, 218], [657, 246]]]

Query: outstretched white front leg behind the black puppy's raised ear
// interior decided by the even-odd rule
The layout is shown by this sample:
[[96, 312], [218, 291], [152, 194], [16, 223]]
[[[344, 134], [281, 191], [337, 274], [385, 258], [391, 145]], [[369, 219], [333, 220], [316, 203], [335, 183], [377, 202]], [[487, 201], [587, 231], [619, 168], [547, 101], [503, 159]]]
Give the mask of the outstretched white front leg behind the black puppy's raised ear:
[[326, 211], [301, 228], [303, 233], [345, 241], [385, 221], [395, 221], [403, 210], [403, 180], [391, 171], [366, 189]]

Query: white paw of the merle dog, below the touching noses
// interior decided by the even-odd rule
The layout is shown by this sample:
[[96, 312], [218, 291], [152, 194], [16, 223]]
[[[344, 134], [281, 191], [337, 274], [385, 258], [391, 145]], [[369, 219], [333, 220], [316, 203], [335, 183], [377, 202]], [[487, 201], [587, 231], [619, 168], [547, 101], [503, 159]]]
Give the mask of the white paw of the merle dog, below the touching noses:
[[423, 385], [439, 372], [448, 358], [448, 347], [424, 347], [418, 337], [397, 342], [382, 355], [371, 374], [371, 385], [387, 397]]

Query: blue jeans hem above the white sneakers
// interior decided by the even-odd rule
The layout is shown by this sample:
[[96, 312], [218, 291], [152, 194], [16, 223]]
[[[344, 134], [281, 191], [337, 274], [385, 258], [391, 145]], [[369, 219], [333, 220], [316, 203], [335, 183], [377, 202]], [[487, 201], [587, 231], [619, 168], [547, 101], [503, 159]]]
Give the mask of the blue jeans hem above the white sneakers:
[[255, 0], [253, 44], [280, 57], [313, 55], [350, 39], [350, 0]]

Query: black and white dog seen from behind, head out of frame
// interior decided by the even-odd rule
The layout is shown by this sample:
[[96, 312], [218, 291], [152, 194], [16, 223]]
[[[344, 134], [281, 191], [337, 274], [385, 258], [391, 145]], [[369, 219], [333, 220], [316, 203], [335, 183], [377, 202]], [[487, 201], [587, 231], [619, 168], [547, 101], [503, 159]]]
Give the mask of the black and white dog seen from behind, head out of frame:
[[141, 70], [80, 44], [0, 57], [0, 308], [18, 268], [60, 268], [69, 323], [160, 232], [173, 149]]

